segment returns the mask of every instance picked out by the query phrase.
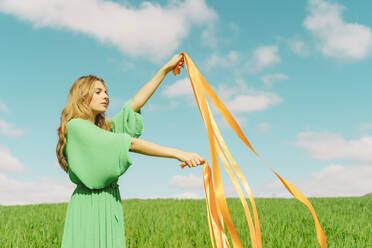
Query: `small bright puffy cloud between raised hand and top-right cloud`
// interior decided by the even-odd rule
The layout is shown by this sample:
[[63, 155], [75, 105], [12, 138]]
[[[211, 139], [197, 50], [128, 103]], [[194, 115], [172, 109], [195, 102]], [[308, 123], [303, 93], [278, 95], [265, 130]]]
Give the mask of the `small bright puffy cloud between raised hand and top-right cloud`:
[[277, 46], [259, 46], [245, 65], [248, 71], [257, 72], [280, 62]]

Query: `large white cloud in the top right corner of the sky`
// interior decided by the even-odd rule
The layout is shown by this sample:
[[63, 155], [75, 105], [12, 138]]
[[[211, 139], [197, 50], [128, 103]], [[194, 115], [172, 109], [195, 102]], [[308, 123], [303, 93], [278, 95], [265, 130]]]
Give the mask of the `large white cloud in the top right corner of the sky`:
[[336, 59], [364, 59], [372, 48], [371, 28], [345, 22], [343, 9], [338, 3], [309, 0], [310, 15], [304, 25], [319, 40], [323, 54]]

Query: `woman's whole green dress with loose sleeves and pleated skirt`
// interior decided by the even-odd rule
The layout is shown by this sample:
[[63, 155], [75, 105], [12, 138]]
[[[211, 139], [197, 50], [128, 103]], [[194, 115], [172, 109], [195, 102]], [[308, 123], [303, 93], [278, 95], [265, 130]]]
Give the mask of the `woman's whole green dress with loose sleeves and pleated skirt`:
[[110, 131], [81, 118], [67, 123], [65, 154], [76, 188], [67, 206], [62, 248], [125, 247], [117, 182], [132, 164], [131, 137], [144, 130], [141, 110], [134, 112], [131, 102], [110, 120]]

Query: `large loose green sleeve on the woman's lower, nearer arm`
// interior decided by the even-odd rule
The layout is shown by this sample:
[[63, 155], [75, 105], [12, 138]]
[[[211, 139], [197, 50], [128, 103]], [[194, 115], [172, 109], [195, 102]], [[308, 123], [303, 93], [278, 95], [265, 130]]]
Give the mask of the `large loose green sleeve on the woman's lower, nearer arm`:
[[132, 137], [106, 131], [89, 120], [67, 123], [68, 168], [90, 189], [100, 189], [118, 179], [132, 164], [128, 155]]

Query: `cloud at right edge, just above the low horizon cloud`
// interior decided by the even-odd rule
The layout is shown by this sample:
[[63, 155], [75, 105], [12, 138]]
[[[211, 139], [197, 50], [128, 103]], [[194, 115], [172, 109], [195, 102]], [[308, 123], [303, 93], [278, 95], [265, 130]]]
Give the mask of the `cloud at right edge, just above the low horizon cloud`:
[[329, 132], [302, 132], [297, 135], [296, 146], [305, 148], [320, 160], [350, 159], [372, 162], [372, 136], [345, 140]]

